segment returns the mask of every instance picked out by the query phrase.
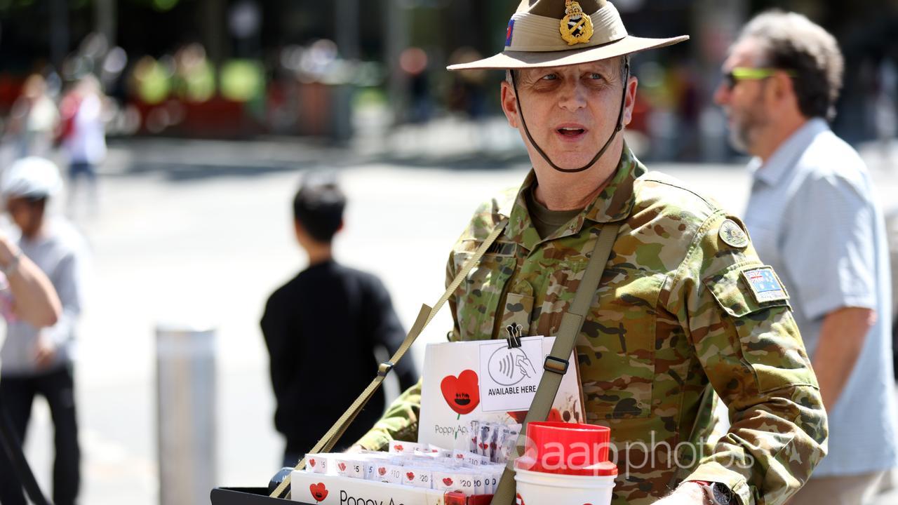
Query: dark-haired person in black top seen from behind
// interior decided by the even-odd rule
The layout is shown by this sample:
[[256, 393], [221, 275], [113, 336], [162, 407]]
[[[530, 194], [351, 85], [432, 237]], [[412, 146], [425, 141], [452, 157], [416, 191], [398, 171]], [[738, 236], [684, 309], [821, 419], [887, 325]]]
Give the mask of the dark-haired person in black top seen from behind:
[[[296, 240], [309, 257], [269, 297], [261, 329], [277, 401], [275, 428], [293, 466], [330, 429], [377, 373], [374, 350], [392, 355], [405, 331], [380, 279], [334, 261], [333, 236], [343, 226], [346, 197], [335, 182], [305, 182], [293, 201]], [[393, 368], [401, 390], [418, 377], [408, 360]], [[349, 447], [383, 414], [378, 390], [335, 450]]]

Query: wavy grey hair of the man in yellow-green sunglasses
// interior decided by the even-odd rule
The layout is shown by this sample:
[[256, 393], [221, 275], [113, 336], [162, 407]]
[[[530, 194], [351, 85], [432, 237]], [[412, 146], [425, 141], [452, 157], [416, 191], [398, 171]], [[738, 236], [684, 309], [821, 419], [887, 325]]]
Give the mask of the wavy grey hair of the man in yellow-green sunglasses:
[[758, 65], [795, 72], [798, 109], [806, 118], [835, 118], [845, 63], [831, 33], [803, 14], [770, 10], [745, 25], [739, 40], [746, 39], [761, 46]]

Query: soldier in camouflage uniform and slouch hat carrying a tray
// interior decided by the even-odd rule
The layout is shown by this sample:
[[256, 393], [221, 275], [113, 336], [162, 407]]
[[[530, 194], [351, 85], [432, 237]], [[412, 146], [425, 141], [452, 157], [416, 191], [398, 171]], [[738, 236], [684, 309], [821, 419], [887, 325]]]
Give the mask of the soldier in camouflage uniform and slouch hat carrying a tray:
[[[533, 163], [453, 247], [448, 280], [507, 223], [450, 298], [450, 339], [498, 338], [509, 323], [555, 335], [599, 230], [620, 226], [576, 343], [586, 421], [611, 427], [618, 454], [613, 503], [784, 503], [827, 435], [788, 294], [741, 221], [647, 173], [617, 135], [637, 88], [627, 55], [685, 38], [631, 37], [602, 1], [579, 3], [594, 25], [583, 31], [572, 4], [525, 0], [503, 53], [450, 67], [509, 70], [503, 110]], [[707, 443], [713, 392], [732, 426]], [[360, 445], [414, 439], [419, 403], [418, 385]]]

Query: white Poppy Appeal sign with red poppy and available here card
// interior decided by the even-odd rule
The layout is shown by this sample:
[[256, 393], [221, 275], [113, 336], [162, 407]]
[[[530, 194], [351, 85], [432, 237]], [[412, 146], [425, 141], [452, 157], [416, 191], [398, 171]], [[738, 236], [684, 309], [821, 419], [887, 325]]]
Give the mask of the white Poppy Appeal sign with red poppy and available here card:
[[[555, 337], [524, 337], [521, 347], [507, 341], [466, 341], [428, 344], [418, 442], [468, 450], [472, 420], [520, 422], [530, 409], [542, 377], [542, 361]], [[553, 419], [584, 419], [577, 359], [561, 379], [552, 404]]]

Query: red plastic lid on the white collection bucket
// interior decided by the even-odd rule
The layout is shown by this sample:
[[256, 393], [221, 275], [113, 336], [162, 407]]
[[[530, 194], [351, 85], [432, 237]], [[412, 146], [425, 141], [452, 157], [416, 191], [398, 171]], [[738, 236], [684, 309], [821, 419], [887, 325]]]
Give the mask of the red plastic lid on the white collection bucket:
[[617, 475], [608, 460], [611, 429], [572, 422], [530, 422], [524, 456], [515, 468], [566, 475]]

